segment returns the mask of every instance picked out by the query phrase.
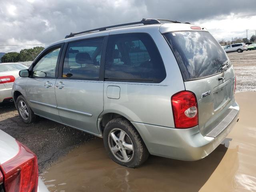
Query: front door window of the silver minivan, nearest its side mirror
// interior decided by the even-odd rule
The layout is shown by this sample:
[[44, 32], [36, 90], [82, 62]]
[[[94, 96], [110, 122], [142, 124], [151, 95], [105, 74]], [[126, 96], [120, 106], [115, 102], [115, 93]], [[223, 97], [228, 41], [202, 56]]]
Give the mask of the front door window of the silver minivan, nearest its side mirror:
[[34, 77], [55, 77], [56, 64], [60, 47], [51, 50], [43, 56], [33, 68]]

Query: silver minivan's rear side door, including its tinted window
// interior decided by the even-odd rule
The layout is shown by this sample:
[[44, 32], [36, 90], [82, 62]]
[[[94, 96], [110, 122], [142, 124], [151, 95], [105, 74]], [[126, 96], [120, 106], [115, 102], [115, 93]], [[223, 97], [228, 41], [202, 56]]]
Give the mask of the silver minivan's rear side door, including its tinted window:
[[103, 41], [68, 43], [55, 86], [62, 122], [93, 134], [99, 134], [97, 120], [103, 111], [104, 82], [99, 78]]

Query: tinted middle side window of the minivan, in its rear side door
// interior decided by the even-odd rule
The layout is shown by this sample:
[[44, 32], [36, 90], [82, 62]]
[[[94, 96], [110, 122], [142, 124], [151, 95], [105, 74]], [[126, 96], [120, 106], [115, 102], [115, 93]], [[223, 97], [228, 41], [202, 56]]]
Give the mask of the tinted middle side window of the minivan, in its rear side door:
[[98, 80], [103, 39], [96, 38], [69, 43], [62, 77]]

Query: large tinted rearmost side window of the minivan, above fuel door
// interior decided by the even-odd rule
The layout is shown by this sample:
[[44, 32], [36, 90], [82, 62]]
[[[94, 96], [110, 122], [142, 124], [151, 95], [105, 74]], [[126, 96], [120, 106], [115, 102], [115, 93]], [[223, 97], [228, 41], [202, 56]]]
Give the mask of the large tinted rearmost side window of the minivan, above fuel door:
[[146, 33], [110, 35], [105, 79], [126, 82], [161, 82], [164, 63], [152, 38]]

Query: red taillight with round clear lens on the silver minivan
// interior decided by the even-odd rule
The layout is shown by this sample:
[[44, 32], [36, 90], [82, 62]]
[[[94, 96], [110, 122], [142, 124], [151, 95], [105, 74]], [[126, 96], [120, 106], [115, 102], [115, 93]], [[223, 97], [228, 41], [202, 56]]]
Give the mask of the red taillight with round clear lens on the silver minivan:
[[181, 91], [171, 98], [175, 128], [191, 128], [198, 125], [198, 106], [194, 93]]

